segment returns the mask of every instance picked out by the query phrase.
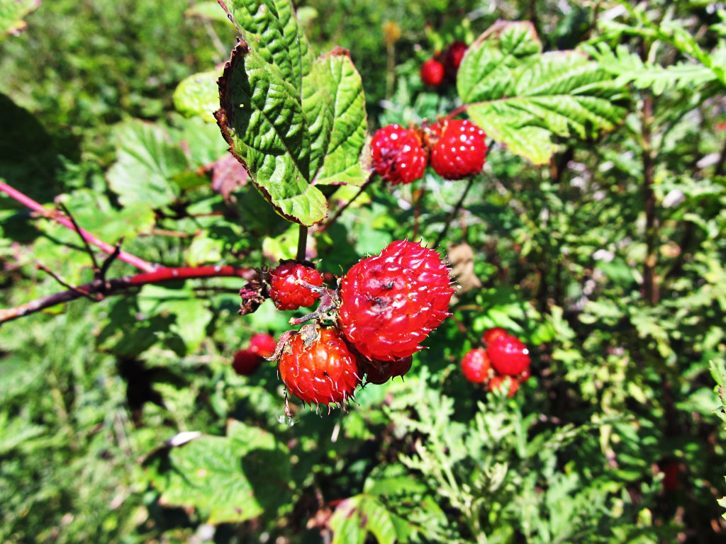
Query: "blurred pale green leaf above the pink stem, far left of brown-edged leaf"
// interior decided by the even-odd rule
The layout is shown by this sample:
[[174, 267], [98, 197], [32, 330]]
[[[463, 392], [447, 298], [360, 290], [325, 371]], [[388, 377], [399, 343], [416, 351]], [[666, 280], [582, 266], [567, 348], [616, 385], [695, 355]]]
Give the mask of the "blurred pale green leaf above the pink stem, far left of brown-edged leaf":
[[124, 206], [162, 207], [176, 199], [172, 178], [187, 170], [187, 157], [164, 128], [139, 120], [123, 123], [117, 133], [117, 160], [108, 170], [111, 189]]

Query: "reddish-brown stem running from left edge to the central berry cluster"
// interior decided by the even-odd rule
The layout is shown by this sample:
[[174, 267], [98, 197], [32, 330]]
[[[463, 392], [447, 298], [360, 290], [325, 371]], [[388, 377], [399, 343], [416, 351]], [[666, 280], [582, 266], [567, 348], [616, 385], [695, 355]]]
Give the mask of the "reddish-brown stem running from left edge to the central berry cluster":
[[235, 268], [234, 266], [198, 266], [198, 267], [181, 267], [181, 268], [158, 268], [153, 272], [144, 272], [135, 276], [124, 276], [110, 280], [95, 279], [88, 284], [79, 285], [62, 291], [60, 293], [51, 294], [47, 297], [41, 297], [31, 302], [25, 302], [15, 308], [0, 309], [0, 323], [12, 321], [13, 319], [28, 316], [30, 313], [36, 313], [45, 308], [76, 300], [84, 296], [95, 296], [94, 300], [103, 300], [110, 294], [120, 294], [134, 287], [140, 287], [145, 284], [160, 284], [165, 281], [174, 281], [179, 279], [202, 279], [202, 278], [221, 278], [234, 277], [246, 280], [253, 279], [257, 272], [254, 268]]

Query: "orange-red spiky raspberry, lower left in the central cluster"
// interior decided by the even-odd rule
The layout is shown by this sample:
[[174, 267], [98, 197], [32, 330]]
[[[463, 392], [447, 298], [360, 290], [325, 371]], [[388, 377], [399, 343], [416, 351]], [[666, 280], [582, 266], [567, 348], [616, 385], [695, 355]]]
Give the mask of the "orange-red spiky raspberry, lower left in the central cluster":
[[361, 382], [356, 355], [333, 328], [294, 334], [278, 368], [287, 390], [309, 404], [342, 403]]

